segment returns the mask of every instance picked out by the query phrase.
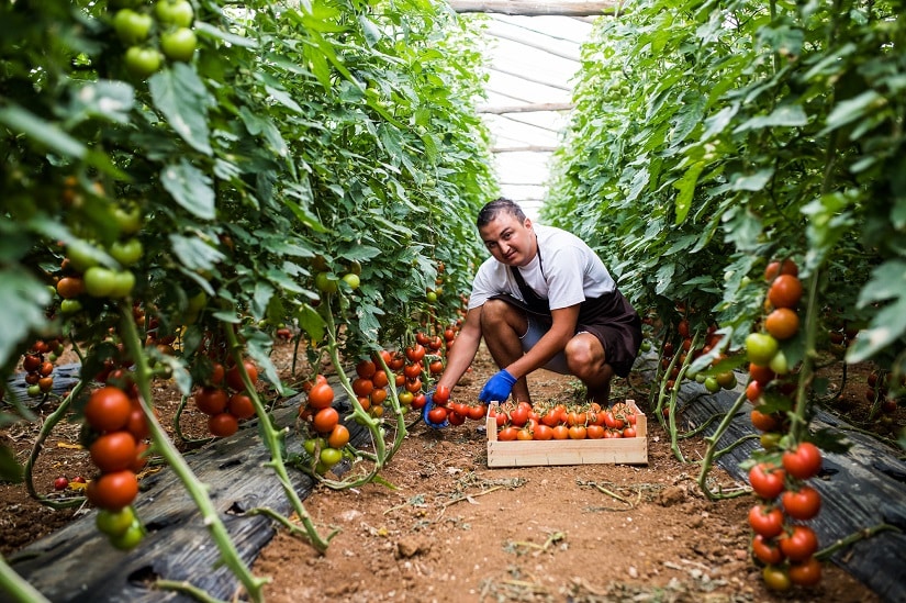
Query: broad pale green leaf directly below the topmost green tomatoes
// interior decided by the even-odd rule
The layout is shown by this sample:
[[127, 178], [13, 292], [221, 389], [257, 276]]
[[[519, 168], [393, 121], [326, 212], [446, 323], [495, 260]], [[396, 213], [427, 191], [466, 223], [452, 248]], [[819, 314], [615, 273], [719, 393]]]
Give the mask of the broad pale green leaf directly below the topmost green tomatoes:
[[194, 69], [176, 63], [148, 79], [152, 100], [167, 122], [192, 148], [211, 155], [208, 107], [212, 98]]

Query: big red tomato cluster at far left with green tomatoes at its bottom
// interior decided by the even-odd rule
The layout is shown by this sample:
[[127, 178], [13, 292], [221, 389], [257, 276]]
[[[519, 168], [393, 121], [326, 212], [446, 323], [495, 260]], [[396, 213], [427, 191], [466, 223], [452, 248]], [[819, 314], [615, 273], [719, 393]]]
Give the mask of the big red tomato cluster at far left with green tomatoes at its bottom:
[[85, 406], [82, 440], [99, 474], [88, 482], [88, 500], [99, 509], [98, 528], [116, 548], [131, 549], [142, 541], [144, 528], [132, 502], [147, 462], [149, 436], [138, 393], [125, 371], [111, 375], [111, 383], [94, 390]]

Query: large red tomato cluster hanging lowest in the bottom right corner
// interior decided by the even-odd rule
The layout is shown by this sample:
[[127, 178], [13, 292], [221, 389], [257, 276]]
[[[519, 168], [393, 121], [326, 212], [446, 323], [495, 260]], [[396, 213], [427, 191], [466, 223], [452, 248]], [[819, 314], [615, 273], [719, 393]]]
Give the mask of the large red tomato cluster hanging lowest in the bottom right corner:
[[820, 468], [820, 450], [803, 442], [783, 453], [780, 466], [764, 460], [749, 470], [752, 490], [761, 498], [749, 511], [752, 555], [764, 565], [762, 578], [771, 590], [813, 587], [821, 579], [821, 563], [815, 558], [818, 537], [802, 523], [820, 511], [820, 494], [806, 483]]

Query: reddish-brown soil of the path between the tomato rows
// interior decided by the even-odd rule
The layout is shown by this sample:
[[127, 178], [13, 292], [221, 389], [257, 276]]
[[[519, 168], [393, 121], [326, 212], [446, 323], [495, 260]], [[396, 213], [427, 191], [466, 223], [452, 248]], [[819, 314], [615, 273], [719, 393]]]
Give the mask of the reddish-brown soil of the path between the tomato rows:
[[[289, 377], [291, 348], [275, 361]], [[61, 360], [65, 361], [65, 360]], [[474, 400], [495, 371], [484, 349], [454, 392]], [[302, 369], [304, 372], [304, 368]], [[566, 401], [578, 382], [547, 371], [530, 376], [533, 398]], [[839, 382], [839, 381], [836, 381]], [[850, 391], [852, 390], [852, 391]], [[864, 406], [864, 376], [838, 397]], [[156, 406], [171, 416], [179, 402], [160, 384]], [[638, 376], [618, 380], [613, 399], [648, 399]], [[642, 406], [644, 409], [644, 406]], [[0, 432], [20, 460], [27, 458], [41, 420]], [[169, 421], [163, 421], [169, 425]], [[903, 425], [903, 417], [892, 420]], [[486, 436], [469, 421], [432, 429], [418, 422], [381, 472], [384, 483], [353, 490], [315, 488], [304, 501], [327, 551], [281, 531], [260, 552], [254, 572], [267, 576], [266, 599], [298, 601], [879, 601], [842, 569], [826, 565], [815, 588], [782, 595], [765, 590], [749, 555], [750, 495], [707, 501], [697, 465], [681, 464], [669, 437], [650, 420], [647, 466], [580, 465], [489, 469]], [[187, 409], [183, 435], [201, 438], [203, 417]], [[886, 426], [885, 428], [890, 428]], [[700, 438], [683, 440], [686, 459], [701, 458]], [[57, 425], [45, 442], [33, 481], [63, 501], [54, 480], [89, 476], [78, 426]], [[714, 485], [745, 489], [715, 468]], [[22, 484], [0, 484], [0, 552], [4, 556], [57, 529], [82, 511], [54, 511]]]

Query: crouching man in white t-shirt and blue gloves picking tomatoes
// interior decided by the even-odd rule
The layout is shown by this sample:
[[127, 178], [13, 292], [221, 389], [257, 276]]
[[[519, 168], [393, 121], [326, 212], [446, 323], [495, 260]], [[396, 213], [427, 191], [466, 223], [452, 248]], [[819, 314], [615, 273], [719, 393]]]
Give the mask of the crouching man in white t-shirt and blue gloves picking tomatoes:
[[544, 367], [578, 377], [590, 400], [608, 405], [611, 379], [626, 377], [638, 354], [641, 321], [601, 258], [579, 237], [533, 224], [508, 199], [484, 205], [477, 225], [491, 257], [476, 275], [437, 388], [452, 390], [484, 337], [501, 370], [481, 401], [512, 394], [530, 403], [525, 377]]

